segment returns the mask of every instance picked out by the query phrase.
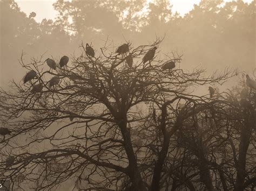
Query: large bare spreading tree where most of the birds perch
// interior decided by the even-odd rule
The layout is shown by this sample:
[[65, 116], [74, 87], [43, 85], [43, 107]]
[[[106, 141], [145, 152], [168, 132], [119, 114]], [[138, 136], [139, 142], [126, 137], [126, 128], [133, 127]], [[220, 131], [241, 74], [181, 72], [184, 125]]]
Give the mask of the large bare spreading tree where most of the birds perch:
[[[172, 178], [173, 188], [196, 190], [193, 175], [168, 165], [177, 131], [215, 103], [208, 95], [192, 95], [192, 88], [224, 83], [234, 73], [227, 69], [205, 77], [204, 69], [178, 69], [182, 55], [172, 52], [161, 59], [160, 42], [129, 43], [130, 54], [120, 55], [106, 42], [95, 58], [86, 56], [82, 44], [79, 57], [53, 72], [44, 69], [43, 56], [27, 64], [22, 55], [21, 65], [37, 77], [1, 90], [2, 125], [11, 133], [1, 142], [0, 181], [11, 181], [12, 189], [25, 189], [28, 182], [36, 190], [51, 189], [71, 179], [79, 190], [159, 190]], [[158, 47], [154, 58], [143, 63], [153, 47]], [[176, 68], [163, 68], [169, 61]], [[177, 154], [187, 160], [185, 151]], [[212, 189], [210, 172], [203, 172], [209, 167], [204, 151], [197, 157], [201, 181]]]

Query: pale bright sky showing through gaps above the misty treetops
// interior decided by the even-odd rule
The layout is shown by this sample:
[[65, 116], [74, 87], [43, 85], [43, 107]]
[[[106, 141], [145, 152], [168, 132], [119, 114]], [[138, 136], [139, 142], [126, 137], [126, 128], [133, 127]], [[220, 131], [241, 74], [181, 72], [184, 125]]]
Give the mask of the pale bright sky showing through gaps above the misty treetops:
[[[92, 0], [93, 1], [93, 0]], [[198, 4], [200, 0], [170, 0], [173, 4], [173, 12], [179, 12], [181, 16], [193, 9], [194, 4]], [[232, 0], [225, 0], [225, 2]], [[244, 2], [250, 3], [253, 0], [243, 0]], [[16, 0], [21, 11], [25, 12], [29, 16], [30, 12], [36, 12], [37, 16], [35, 20], [41, 22], [43, 18], [54, 20], [57, 11], [53, 9], [52, 4], [56, 0]]]

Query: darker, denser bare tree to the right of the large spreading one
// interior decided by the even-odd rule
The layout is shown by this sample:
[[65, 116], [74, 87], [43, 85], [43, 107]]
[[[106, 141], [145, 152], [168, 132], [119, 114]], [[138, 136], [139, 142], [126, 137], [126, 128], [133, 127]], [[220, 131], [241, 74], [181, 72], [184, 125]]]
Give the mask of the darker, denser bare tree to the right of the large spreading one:
[[255, 188], [255, 95], [233, 88], [185, 119], [169, 147], [166, 190]]

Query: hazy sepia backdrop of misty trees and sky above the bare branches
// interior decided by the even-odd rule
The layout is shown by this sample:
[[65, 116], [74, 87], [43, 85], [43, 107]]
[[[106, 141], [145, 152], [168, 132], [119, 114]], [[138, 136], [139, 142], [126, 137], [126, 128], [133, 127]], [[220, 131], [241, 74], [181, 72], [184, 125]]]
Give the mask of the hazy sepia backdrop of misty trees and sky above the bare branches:
[[[194, 4], [197, 3], [197, 4]], [[78, 9], [79, 8], [79, 9]], [[29, 19], [35, 11], [36, 17]], [[177, 12], [179, 11], [179, 12]], [[162, 52], [184, 53], [181, 66], [208, 72], [255, 66], [255, 1], [1, 1], [1, 87], [21, 80], [27, 58], [77, 53], [106, 38], [135, 46], [165, 36]], [[116, 47], [115, 47], [116, 48]], [[96, 52], [97, 54], [97, 52]]]

